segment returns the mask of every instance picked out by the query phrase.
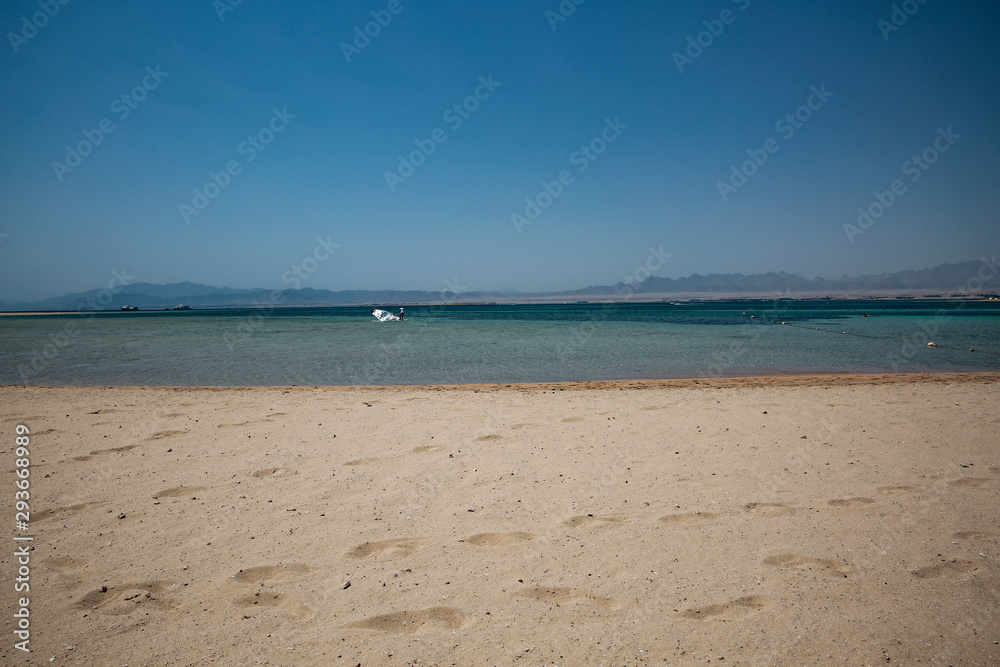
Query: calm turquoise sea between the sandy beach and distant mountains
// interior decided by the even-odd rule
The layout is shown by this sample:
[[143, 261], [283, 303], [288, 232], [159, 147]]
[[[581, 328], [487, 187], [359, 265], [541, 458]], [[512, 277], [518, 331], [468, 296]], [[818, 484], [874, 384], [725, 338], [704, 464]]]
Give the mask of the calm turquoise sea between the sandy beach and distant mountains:
[[995, 301], [413, 306], [406, 321], [388, 323], [368, 311], [0, 317], [0, 384], [458, 384], [1000, 370]]

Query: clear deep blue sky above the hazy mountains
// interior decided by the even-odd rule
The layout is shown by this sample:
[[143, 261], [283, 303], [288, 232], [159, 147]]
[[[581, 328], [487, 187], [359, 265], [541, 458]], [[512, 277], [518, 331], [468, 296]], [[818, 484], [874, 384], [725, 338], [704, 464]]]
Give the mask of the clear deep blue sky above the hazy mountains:
[[[672, 4], [6, 2], [0, 299], [103, 287], [123, 267], [288, 287], [317, 238], [339, 247], [301, 286], [334, 290], [572, 289], [661, 246], [670, 277], [997, 251], [995, 5], [897, 3], [889, 30], [891, 2]], [[342, 44], [379, 17], [348, 62]], [[679, 68], [689, 37], [703, 46]], [[797, 110], [789, 136], [776, 123]], [[433, 152], [399, 171], [416, 142]], [[927, 149], [933, 164], [904, 171]], [[754, 154], [767, 160], [730, 181]], [[880, 217], [845, 231], [897, 180]], [[526, 198], [547, 207], [515, 225]]]

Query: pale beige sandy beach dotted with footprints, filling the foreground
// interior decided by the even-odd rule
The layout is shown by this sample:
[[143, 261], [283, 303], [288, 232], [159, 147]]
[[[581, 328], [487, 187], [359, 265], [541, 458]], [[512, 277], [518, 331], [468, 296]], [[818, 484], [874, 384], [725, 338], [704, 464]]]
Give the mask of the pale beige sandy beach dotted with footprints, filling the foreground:
[[0, 405], [3, 664], [1000, 662], [998, 374]]

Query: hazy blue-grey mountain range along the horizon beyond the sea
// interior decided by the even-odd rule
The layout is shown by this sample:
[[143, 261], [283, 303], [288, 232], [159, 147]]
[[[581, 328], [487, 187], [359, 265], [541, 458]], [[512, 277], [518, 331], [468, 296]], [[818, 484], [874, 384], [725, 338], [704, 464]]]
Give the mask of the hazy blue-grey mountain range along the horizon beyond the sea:
[[[325, 289], [233, 289], [198, 283], [132, 283], [114, 290], [90, 290], [66, 294], [30, 303], [0, 302], [0, 310], [17, 311], [77, 311], [119, 310], [135, 306], [142, 310], [162, 310], [185, 304], [193, 308], [238, 308], [257, 306], [344, 306], [377, 304], [439, 303], [442, 301], [559, 301], [580, 297], [649, 298], [663, 295], [761, 295], [775, 296], [779, 292], [797, 295], [862, 295], [867, 293], [912, 293], [913, 290], [943, 290], [944, 294], [968, 292], [967, 283], [977, 275], [981, 261], [942, 264], [921, 271], [900, 271], [869, 276], [843, 276], [835, 280], [805, 278], [791, 273], [697, 273], [686, 278], [657, 278], [642, 282], [594, 285], [565, 292], [462, 292], [460, 294], [421, 290], [343, 290]], [[990, 289], [993, 287], [993, 289]], [[996, 286], [984, 286], [986, 292], [1000, 291]]]

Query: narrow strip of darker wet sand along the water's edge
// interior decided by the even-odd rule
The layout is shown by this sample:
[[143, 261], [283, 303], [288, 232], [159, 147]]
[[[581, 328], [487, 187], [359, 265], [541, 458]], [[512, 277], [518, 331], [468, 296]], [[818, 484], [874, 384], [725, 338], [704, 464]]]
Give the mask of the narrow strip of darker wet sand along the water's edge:
[[740, 387], [815, 387], [914, 383], [998, 382], [1000, 371], [907, 371], [900, 373], [811, 372], [768, 373], [732, 377], [636, 378], [630, 380], [570, 380], [557, 382], [496, 382], [469, 384], [391, 385], [25, 385], [0, 384], [0, 389], [136, 389], [164, 391], [531, 391], [582, 389], [731, 389]]

